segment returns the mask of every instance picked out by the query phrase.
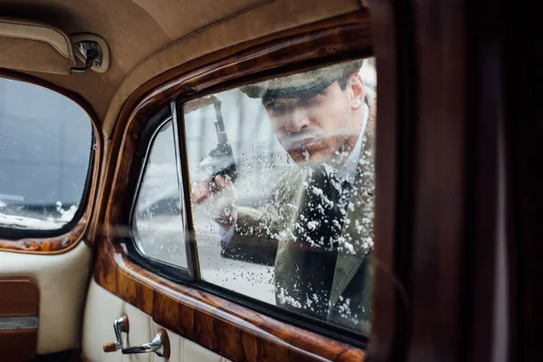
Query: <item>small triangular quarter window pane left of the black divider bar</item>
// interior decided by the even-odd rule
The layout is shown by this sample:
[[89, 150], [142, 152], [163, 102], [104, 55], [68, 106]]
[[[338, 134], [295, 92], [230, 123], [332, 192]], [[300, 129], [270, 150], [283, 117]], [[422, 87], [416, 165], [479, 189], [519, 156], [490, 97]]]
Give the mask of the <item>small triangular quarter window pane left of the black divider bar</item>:
[[153, 136], [143, 170], [132, 219], [138, 251], [186, 268], [185, 224], [170, 119]]

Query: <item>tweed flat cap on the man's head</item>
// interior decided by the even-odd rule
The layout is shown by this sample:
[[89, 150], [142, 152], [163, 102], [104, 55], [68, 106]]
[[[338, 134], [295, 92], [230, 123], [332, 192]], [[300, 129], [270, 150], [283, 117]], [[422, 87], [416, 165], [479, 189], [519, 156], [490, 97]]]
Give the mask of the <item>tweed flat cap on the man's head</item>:
[[329, 67], [273, 78], [240, 87], [250, 98], [308, 98], [360, 71], [364, 60], [342, 62]]

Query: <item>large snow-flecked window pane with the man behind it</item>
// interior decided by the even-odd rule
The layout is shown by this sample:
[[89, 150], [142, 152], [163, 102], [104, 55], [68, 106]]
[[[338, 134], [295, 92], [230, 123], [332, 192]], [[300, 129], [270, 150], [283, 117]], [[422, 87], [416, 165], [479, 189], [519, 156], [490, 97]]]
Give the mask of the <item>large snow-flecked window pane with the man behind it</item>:
[[368, 333], [375, 88], [369, 59], [186, 103], [202, 280]]

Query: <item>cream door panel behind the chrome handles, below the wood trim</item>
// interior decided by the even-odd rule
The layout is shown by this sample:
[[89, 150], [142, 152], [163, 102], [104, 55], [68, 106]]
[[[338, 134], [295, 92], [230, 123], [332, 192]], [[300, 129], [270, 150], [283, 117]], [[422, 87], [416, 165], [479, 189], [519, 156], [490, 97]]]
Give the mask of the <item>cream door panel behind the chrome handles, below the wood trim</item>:
[[[123, 343], [127, 346], [135, 346], [149, 342], [161, 329], [150, 316], [136, 307], [131, 306], [119, 297], [106, 291], [96, 281], [90, 281], [87, 295], [85, 318], [83, 321], [83, 357], [91, 362], [158, 362], [166, 359], [157, 357], [156, 354], [123, 355], [120, 351], [104, 353], [102, 346], [105, 342], [115, 341], [113, 332], [113, 320], [118, 319], [122, 313], [129, 317], [130, 331], [128, 340], [123, 333]], [[226, 358], [215, 354], [209, 349], [203, 348], [194, 342], [176, 335], [167, 330], [170, 340], [170, 362], [226, 362]]]

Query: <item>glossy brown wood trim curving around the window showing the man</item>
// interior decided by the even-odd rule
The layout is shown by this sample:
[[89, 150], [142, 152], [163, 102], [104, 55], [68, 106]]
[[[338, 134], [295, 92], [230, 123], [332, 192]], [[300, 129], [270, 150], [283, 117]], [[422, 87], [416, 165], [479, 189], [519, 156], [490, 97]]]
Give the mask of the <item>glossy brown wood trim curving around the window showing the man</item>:
[[[190, 100], [243, 82], [306, 70], [372, 54], [367, 11], [300, 28], [285, 38], [266, 38], [252, 48], [217, 52], [179, 68], [174, 79], [148, 90], [127, 119], [119, 119], [108, 160], [111, 177], [103, 205], [105, 233], [97, 240], [94, 279], [100, 286], [152, 316], [184, 338], [232, 360], [363, 360], [365, 352], [344, 342], [272, 319], [194, 287], [168, 281], [132, 262], [116, 233], [129, 220], [129, 177], [146, 122], [170, 100]], [[283, 35], [284, 36], [284, 35]], [[228, 52], [226, 52], [228, 53]], [[115, 152], [118, 150], [118, 154]], [[105, 192], [105, 190], [104, 190]], [[106, 195], [102, 195], [106, 197]]]

